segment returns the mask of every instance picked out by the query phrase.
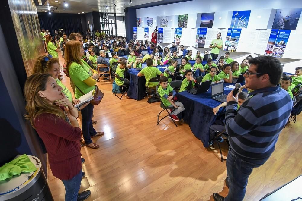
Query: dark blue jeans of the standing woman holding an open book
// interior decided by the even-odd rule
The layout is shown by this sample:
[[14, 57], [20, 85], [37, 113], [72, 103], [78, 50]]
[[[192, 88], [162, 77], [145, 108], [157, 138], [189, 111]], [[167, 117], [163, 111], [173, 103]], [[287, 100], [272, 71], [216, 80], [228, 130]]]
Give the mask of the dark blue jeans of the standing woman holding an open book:
[[81, 109], [82, 114], [82, 133], [86, 144], [92, 143], [91, 136], [97, 132], [92, 126], [93, 105], [89, 103], [85, 108]]

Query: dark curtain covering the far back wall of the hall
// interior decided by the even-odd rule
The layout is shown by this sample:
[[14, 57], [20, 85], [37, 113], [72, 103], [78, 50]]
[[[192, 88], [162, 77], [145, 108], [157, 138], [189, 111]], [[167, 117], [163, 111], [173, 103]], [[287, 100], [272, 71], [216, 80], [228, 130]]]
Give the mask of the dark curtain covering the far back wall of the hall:
[[51, 13], [50, 15], [48, 12], [38, 13], [41, 29], [49, 30], [51, 35], [58, 29], [64, 29], [67, 35], [72, 32], [83, 33], [81, 15], [82, 14], [65, 13]]

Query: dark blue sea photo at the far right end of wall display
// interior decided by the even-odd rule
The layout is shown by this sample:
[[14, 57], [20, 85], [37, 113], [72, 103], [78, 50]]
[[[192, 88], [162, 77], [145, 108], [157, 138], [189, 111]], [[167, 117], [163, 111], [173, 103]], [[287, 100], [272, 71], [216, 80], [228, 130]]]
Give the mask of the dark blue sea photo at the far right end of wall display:
[[296, 30], [302, 8], [277, 9], [272, 29]]

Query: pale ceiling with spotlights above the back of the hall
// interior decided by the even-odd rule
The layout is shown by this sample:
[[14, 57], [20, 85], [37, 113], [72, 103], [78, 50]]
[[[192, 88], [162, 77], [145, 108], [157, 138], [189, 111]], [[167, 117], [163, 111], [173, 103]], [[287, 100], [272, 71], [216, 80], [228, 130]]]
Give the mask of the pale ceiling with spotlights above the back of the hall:
[[[65, 0], [68, 4], [64, 6], [64, 0], [47, 0], [44, 6], [37, 6], [38, 12], [55, 12], [55, 13], [89, 13], [107, 12], [116, 13], [117, 16], [124, 16], [124, 8], [150, 3], [149, 0]], [[160, 2], [162, 0], [153, 0]], [[116, 6], [114, 6], [114, 4]], [[106, 5], [108, 9], [106, 9]], [[56, 9], [57, 8], [57, 9]], [[54, 10], [54, 11], [53, 11]]]

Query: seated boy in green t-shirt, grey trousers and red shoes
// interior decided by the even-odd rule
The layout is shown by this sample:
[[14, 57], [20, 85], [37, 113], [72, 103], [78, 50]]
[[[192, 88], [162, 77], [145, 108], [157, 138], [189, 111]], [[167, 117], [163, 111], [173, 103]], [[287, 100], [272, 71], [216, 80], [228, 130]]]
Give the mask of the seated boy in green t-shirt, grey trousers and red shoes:
[[[171, 112], [168, 117], [173, 118], [174, 121], [179, 121], [179, 118], [177, 117], [177, 115], [179, 113], [181, 113], [182, 111], [184, 111], [185, 107], [179, 101], [175, 101], [175, 102], [172, 101], [172, 99], [175, 97], [176, 92], [172, 89], [172, 87], [168, 83], [168, 78], [167, 77], [165, 77], [165, 76], [160, 77], [159, 87], [158, 87], [157, 92], [160, 96], [160, 99], [162, 100], [162, 103], [166, 107], [175, 107], [175, 108], [177, 108], [173, 112]], [[172, 93], [172, 95], [169, 96], [169, 93]]]

